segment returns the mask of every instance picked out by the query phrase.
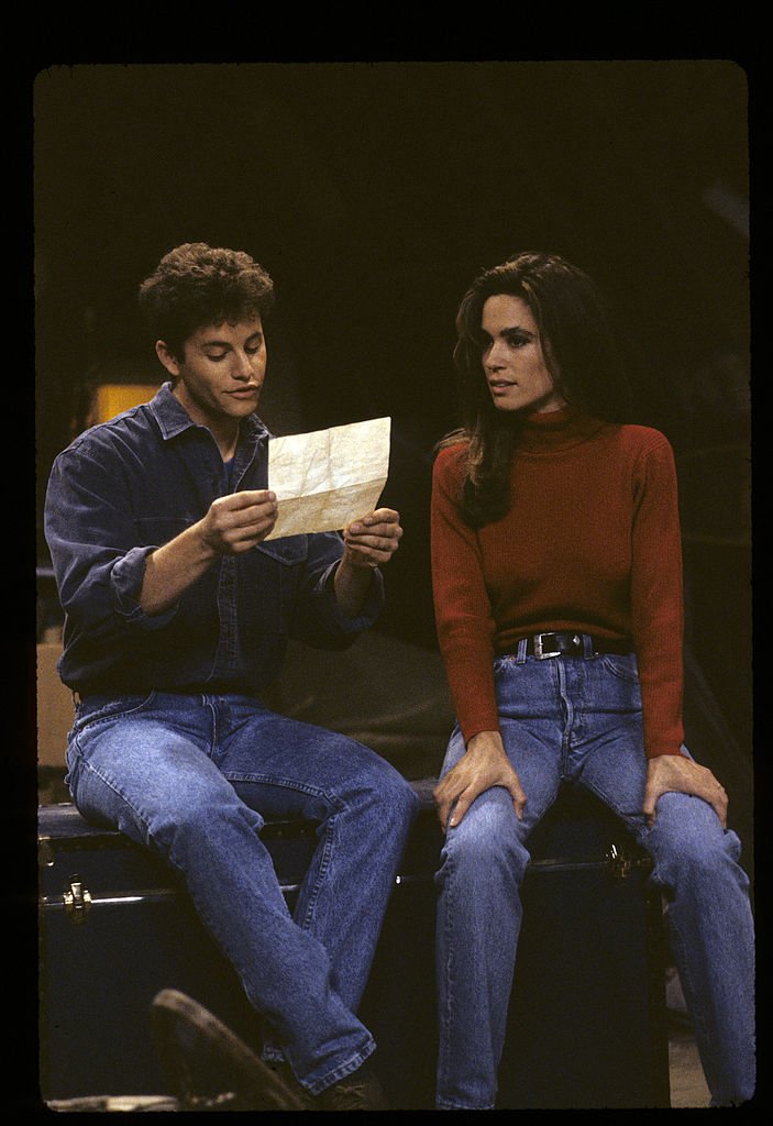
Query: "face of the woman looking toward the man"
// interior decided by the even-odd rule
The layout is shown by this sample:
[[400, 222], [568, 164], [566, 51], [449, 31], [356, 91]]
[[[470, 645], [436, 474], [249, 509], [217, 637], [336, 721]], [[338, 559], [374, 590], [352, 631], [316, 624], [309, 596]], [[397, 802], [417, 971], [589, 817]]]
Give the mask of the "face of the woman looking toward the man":
[[545, 363], [539, 331], [525, 301], [505, 293], [488, 297], [480, 329], [483, 369], [497, 410], [542, 413], [566, 404]]

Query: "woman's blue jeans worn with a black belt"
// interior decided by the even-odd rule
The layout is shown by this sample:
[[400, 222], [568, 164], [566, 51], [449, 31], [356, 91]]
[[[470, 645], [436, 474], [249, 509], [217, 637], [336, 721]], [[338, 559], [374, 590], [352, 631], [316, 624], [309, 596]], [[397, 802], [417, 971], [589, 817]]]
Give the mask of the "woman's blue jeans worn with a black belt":
[[[685, 794], [664, 794], [647, 824], [636, 658], [540, 661], [521, 652], [498, 658], [494, 670], [505, 750], [528, 801], [519, 822], [507, 790], [493, 787], [446, 837], [437, 875], [438, 1107], [495, 1105], [527, 841], [564, 779], [602, 798], [653, 857], [712, 1105], [749, 1099], [754, 924], [740, 843], [707, 802]], [[464, 753], [457, 729], [442, 772]]]

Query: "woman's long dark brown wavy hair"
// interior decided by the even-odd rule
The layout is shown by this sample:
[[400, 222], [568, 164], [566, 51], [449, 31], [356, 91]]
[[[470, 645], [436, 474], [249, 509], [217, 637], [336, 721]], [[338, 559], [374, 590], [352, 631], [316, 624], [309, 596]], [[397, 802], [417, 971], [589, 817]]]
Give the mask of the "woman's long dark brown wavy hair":
[[500, 294], [529, 305], [546, 365], [567, 403], [610, 422], [623, 422], [630, 412], [630, 388], [606, 310], [587, 275], [556, 254], [532, 252], [485, 270], [457, 313], [453, 363], [461, 429], [440, 443], [441, 448], [460, 439], [467, 443], [459, 507], [474, 528], [500, 519], [510, 507], [510, 464], [519, 429], [518, 412], [494, 406], [483, 369], [483, 306]]

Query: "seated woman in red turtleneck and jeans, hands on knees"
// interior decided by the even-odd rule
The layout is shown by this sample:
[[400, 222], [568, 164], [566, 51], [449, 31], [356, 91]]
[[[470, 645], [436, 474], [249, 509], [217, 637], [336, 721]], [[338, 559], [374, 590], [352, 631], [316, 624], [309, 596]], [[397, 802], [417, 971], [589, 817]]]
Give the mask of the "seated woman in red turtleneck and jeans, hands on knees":
[[435, 799], [438, 1107], [495, 1106], [528, 837], [586, 787], [654, 860], [713, 1105], [754, 1090], [754, 932], [727, 795], [682, 727], [666, 438], [629, 420], [604, 305], [523, 253], [457, 318], [462, 427], [438, 454], [432, 579], [457, 714]]

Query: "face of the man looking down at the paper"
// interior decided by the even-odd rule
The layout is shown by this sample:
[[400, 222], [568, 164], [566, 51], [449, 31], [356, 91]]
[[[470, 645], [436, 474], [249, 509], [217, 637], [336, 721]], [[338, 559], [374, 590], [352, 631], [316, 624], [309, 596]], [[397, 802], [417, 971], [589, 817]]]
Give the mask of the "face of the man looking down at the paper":
[[259, 316], [237, 324], [206, 324], [185, 342], [177, 359], [165, 343], [156, 352], [177, 378], [174, 395], [194, 422], [222, 426], [239, 420], [258, 406], [266, 377], [266, 340]]

